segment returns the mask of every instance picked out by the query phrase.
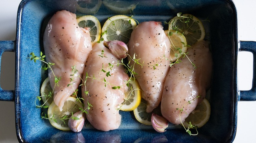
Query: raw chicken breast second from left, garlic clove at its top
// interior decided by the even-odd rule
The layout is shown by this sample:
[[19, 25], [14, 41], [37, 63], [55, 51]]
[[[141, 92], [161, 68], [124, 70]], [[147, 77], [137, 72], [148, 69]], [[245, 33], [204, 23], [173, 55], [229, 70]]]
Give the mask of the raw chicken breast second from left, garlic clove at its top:
[[[104, 51], [104, 57], [101, 57], [102, 50]], [[123, 102], [124, 93], [128, 90], [125, 81], [129, 77], [122, 65], [108, 68], [109, 63], [117, 64], [118, 62], [120, 63], [101, 42], [93, 46], [85, 64], [83, 80], [86, 79], [86, 73], [89, 77], [96, 78], [87, 78], [86, 89], [82, 86], [85, 108], [87, 102], [93, 106], [90, 110], [87, 110], [89, 114], [86, 114], [86, 118], [98, 130], [117, 129], [121, 122], [121, 115], [119, 115], [117, 107]], [[103, 72], [102, 69], [106, 72]], [[111, 76], [107, 77], [107, 72]], [[106, 85], [104, 79], [107, 82]], [[120, 86], [120, 89], [112, 89], [115, 86]], [[86, 95], [85, 91], [89, 91], [89, 94]]]

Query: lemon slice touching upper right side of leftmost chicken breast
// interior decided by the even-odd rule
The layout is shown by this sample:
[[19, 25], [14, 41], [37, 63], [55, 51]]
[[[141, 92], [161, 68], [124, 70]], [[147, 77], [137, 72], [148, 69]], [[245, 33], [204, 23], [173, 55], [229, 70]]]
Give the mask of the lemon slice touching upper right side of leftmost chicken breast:
[[92, 15], [81, 16], [76, 19], [79, 27], [89, 27], [92, 45], [100, 40], [101, 26], [98, 19]]

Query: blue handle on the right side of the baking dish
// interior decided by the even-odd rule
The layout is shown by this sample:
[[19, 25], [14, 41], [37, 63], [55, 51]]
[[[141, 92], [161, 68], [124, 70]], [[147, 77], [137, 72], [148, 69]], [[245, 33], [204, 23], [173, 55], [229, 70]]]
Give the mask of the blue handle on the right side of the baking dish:
[[240, 91], [239, 101], [256, 101], [256, 42], [239, 41], [240, 51], [251, 52], [253, 54], [253, 77], [251, 90]]

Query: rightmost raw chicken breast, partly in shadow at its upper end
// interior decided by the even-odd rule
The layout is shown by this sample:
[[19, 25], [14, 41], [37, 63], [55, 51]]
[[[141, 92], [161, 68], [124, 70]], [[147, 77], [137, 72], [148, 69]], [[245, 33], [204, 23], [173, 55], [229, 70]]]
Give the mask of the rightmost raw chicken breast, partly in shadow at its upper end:
[[[196, 69], [189, 59], [184, 57], [181, 63], [176, 63], [170, 68], [164, 82], [161, 113], [173, 124], [184, 122], [197, 104], [203, 100], [211, 83], [212, 55], [209, 43], [204, 40], [199, 41], [187, 52], [188, 58], [195, 64]], [[197, 96], [200, 97], [197, 98]], [[182, 107], [180, 119], [180, 110], [177, 108]]]

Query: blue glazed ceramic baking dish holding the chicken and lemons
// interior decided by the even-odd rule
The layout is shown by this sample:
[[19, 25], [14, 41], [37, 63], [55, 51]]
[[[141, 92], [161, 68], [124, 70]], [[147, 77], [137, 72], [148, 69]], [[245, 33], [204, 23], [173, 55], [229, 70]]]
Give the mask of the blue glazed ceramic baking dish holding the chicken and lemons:
[[[78, 2], [77, 2], [78, 1]], [[256, 67], [256, 42], [238, 41], [237, 11], [232, 0], [122, 0], [133, 10], [120, 11], [109, 8], [113, 3], [92, 0], [22, 0], [18, 8], [16, 40], [0, 41], [0, 54], [15, 52], [15, 90], [0, 88], [1, 101], [13, 101], [16, 113], [16, 131], [20, 142], [232, 142], [237, 128], [238, 101], [256, 100], [256, 80], [249, 91], [239, 91], [237, 84], [238, 51], [254, 55]], [[120, 2], [120, 1], [119, 1]], [[213, 54], [213, 77], [211, 86], [211, 115], [209, 121], [198, 129], [199, 135], [188, 135], [181, 126], [169, 125], [164, 133], [151, 126], [141, 125], [131, 112], [121, 112], [122, 122], [117, 130], [103, 132], [85, 124], [80, 133], [60, 131], [48, 120], [41, 119], [40, 108], [35, 107], [36, 96], [44, 80], [42, 64], [33, 63], [29, 53], [43, 51], [42, 33], [54, 12], [66, 9], [77, 15], [94, 15], [101, 24], [107, 17], [134, 15], [139, 22], [169, 21], [178, 12], [190, 13], [207, 22], [207, 38], [211, 41]], [[124, 9], [124, 8], [123, 8]], [[119, 10], [119, 11], [118, 11]], [[164, 25], [165, 26], [165, 25]], [[256, 75], [256, 70], [254, 71]]]

